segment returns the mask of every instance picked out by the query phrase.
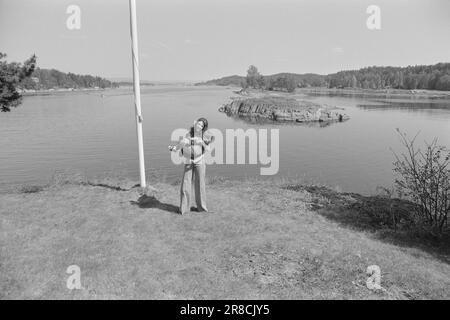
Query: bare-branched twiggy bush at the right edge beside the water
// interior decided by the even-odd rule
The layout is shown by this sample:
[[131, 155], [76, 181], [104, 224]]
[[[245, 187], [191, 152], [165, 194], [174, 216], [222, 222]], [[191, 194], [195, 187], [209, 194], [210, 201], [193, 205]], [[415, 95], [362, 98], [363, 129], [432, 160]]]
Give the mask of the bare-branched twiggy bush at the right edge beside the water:
[[439, 146], [436, 138], [421, 151], [414, 144], [417, 135], [410, 140], [397, 132], [407, 150], [401, 156], [394, 153], [397, 191], [415, 204], [415, 223], [433, 235], [443, 235], [450, 231], [450, 151]]

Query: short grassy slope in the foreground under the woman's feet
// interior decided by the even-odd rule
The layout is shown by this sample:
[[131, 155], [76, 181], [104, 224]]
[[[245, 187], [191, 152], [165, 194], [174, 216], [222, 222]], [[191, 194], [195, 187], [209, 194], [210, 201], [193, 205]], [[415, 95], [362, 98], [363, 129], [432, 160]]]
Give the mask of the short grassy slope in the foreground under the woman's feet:
[[[314, 195], [213, 181], [213, 213], [180, 216], [178, 185], [65, 184], [0, 195], [3, 299], [449, 298], [448, 256], [398, 246], [312, 211]], [[270, 194], [270, 197], [268, 196]], [[81, 290], [66, 268], [81, 268]], [[366, 288], [379, 265], [384, 291]]]

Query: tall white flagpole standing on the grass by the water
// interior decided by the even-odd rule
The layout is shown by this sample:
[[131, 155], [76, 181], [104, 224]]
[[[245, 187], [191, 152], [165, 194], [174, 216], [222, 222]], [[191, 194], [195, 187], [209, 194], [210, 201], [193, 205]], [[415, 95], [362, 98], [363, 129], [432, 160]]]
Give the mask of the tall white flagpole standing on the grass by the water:
[[133, 60], [134, 106], [136, 111], [136, 131], [139, 146], [139, 174], [141, 187], [145, 188], [144, 145], [142, 138], [141, 88], [139, 82], [139, 52], [137, 43], [136, 0], [130, 1], [131, 58]]

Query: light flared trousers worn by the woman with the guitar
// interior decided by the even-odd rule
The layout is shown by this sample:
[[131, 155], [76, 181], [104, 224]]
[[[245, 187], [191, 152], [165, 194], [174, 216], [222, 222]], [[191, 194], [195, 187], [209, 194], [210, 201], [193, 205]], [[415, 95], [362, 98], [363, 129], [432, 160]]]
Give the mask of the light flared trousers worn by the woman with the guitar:
[[200, 163], [190, 163], [184, 165], [183, 180], [180, 190], [180, 213], [184, 214], [191, 210], [192, 188], [195, 188], [195, 202], [198, 211], [208, 211], [206, 209], [206, 188], [205, 188], [204, 161]]

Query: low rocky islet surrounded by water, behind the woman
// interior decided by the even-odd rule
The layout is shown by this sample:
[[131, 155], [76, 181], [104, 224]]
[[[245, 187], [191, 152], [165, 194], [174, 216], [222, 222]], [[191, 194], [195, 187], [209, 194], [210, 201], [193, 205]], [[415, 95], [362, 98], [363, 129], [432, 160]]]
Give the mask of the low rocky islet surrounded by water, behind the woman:
[[232, 98], [219, 108], [229, 116], [258, 117], [273, 121], [344, 121], [349, 117], [342, 108], [321, 105], [293, 98], [267, 96], [258, 98]]

